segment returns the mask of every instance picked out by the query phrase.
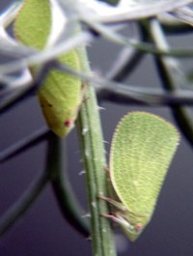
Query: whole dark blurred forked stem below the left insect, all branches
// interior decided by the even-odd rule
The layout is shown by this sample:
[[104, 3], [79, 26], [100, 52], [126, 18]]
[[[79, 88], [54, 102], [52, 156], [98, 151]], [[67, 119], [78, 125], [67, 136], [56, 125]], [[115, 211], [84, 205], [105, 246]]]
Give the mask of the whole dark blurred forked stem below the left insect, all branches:
[[[49, 137], [47, 136], [48, 133]], [[7, 232], [19, 217], [26, 213], [32, 203], [39, 197], [44, 186], [51, 180], [61, 212], [77, 231], [85, 237], [88, 237], [88, 223], [81, 217], [81, 209], [73, 195], [67, 173], [64, 172], [65, 154], [63, 143], [60, 138], [55, 136], [52, 132], [47, 131], [47, 128], [42, 128], [29, 137], [21, 140], [19, 143], [16, 143], [14, 147], [9, 148], [8, 151], [5, 151], [5, 154], [2, 155], [3, 160], [16, 156], [29, 147], [40, 143], [42, 139], [45, 139], [45, 136], [46, 138], [48, 137], [45, 170], [37, 181], [34, 182], [33, 185], [30, 185], [18, 201], [16, 201], [14, 206], [1, 217], [0, 236]]]

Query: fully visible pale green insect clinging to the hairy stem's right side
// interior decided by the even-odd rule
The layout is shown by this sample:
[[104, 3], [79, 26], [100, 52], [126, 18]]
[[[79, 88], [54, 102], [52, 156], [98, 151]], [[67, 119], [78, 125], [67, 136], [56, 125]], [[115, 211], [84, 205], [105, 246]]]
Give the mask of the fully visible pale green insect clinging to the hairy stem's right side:
[[132, 242], [151, 220], [178, 144], [177, 129], [146, 112], [125, 115], [115, 130], [109, 170], [119, 200], [101, 198], [116, 207], [104, 215], [117, 221]]

